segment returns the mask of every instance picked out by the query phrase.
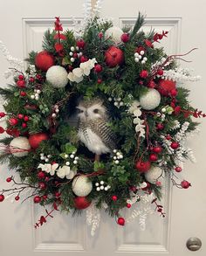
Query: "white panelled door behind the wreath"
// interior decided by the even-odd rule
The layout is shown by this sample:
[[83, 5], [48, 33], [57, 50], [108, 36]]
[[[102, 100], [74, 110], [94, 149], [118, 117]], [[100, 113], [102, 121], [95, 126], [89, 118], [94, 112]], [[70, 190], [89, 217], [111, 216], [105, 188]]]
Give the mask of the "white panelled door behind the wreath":
[[[19, 59], [27, 56], [31, 50], [40, 50], [44, 31], [52, 27], [53, 17], [60, 16], [65, 27], [72, 28], [72, 17], [80, 21], [83, 17], [83, 0], [47, 0], [24, 1], [7, 0], [1, 3], [0, 40], [10, 49], [10, 54]], [[88, 1], [87, 1], [88, 2]], [[93, 1], [94, 3], [95, 1]], [[205, 1], [140, 1], [105, 0], [102, 3], [101, 16], [113, 17], [114, 23], [133, 25], [138, 11], [147, 13], [145, 29], [151, 26], [157, 31], [169, 31], [168, 39], [162, 44], [168, 53], [193, 52], [187, 59], [193, 63], [196, 73], [203, 80], [189, 85], [191, 101], [206, 112], [204, 89], [206, 84], [205, 63]], [[3, 71], [8, 64], [0, 52], [0, 82], [5, 84]], [[185, 66], [182, 63], [182, 66]], [[165, 190], [162, 204], [167, 217], [162, 219], [154, 213], [147, 220], [145, 232], [141, 232], [139, 220], [127, 224], [124, 228], [102, 213], [100, 229], [91, 237], [86, 226], [85, 215], [81, 218], [55, 213], [47, 225], [38, 230], [33, 228], [43, 209], [30, 203], [10, 204], [10, 199], [0, 204], [0, 255], [159, 255], [168, 256], [205, 255], [206, 254], [206, 163], [204, 146], [206, 142], [206, 121], [203, 120], [200, 135], [189, 141], [189, 147], [196, 153], [197, 163], [187, 163], [182, 174], [191, 183], [189, 190]], [[10, 170], [1, 167], [0, 187], [5, 188], [5, 178]], [[127, 211], [127, 214], [128, 211]], [[202, 240], [201, 250], [192, 253], [186, 247], [190, 237]]]

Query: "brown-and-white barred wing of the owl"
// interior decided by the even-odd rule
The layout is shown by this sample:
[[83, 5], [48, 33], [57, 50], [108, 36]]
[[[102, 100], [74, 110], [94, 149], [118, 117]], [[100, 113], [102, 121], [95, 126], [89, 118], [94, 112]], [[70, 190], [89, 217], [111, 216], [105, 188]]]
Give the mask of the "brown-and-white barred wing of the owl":
[[93, 129], [96, 135], [99, 135], [102, 142], [106, 144], [106, 147], [113, 150], [116, 149], [116, 136], [104, 119], [98, 119], [90, 123], [90, 127]]

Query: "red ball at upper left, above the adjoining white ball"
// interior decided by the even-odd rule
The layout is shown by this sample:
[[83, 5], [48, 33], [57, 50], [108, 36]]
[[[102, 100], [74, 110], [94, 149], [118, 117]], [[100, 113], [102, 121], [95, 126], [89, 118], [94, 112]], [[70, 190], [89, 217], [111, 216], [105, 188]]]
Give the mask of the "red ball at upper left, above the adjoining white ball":
[[35, 65], [41, 71], [46, 72], [51, 66], [54, 66], [54, 57], [48, 52], [38, 52], [35, 58]]

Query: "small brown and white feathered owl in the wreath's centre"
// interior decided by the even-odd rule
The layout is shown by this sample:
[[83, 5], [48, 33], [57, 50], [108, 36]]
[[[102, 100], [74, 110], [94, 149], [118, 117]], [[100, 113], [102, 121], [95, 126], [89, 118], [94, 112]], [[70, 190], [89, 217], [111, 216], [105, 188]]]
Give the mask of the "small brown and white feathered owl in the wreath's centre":
[[101, 154], [110, 153], [115, 149], [115, 136], [107, 125], [106, 107], [100, 99], [81, 100], [77, 106], [78, 137], [87, 149], [100, 158]]

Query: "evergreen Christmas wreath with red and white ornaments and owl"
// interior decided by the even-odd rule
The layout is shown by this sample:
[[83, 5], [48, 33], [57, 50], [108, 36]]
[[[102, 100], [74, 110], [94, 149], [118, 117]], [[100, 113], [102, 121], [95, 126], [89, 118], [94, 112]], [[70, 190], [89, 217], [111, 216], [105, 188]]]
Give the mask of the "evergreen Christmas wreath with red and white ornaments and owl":
[[125, 225], [121, 209], [139, 207], [145, 197], [165, 216], [157, 203], [162, 177], [189, 188], [177, 177], [182, 161], [194, 160], [184, 139], [196, 130], [193, 117], [205, 114], [190, 106], [181, 84], [198, 77], [177, 66], [186, 54], [168, 56], [159, 47], [168, 31], [145, 33], [143, 24], [139, 14], [122, 31], [94, 17], [76, 35], [56, 17], [43, 52], [29, 53], [25, 71], [10, 69], [13, 83], [0, 88], [0, 132], [9, 135], [1, 139], [0, 161], [22, 182], [9, 176], [14, 186], [0, 192], [1, 202], [6, 193], [18, 201], [30, 190], [25, 199], [52, 211], [103, 208]]

